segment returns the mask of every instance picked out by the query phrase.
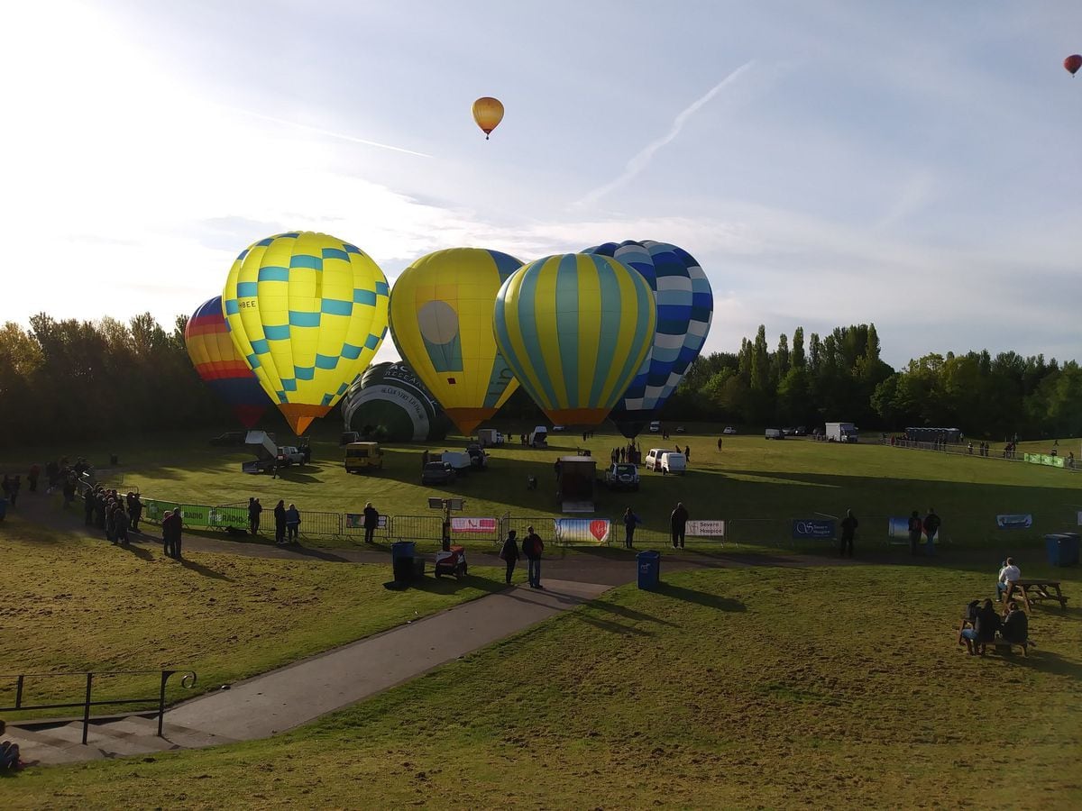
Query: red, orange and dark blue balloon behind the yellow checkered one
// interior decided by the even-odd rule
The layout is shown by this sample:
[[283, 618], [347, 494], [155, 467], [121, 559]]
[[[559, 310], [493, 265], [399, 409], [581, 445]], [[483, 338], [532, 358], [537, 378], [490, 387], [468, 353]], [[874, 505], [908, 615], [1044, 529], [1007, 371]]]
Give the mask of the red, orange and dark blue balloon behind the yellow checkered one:
[[184, 346], [202, 381], [233, 408], [240, 424], [251, 428], [270, 398], [245, 359], [237, 354], [222, 315], [222, 296], [200, 304], [184, 327]]

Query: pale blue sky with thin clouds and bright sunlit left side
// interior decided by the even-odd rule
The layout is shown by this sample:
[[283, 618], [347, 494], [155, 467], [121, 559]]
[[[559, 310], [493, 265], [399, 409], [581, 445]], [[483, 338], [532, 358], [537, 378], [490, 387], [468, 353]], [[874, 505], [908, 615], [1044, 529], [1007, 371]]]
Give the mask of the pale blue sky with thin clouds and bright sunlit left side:
[[[873, 321], [894, 365], [1082, 358], [1078, 2], [23, 3], [0, 320], [160, 322], [293, 228], [690, 251], [707, 350]], [[470, 105], [500, 97], [489, 142]], [[390, 341], [381, 358], [394, 357]]]

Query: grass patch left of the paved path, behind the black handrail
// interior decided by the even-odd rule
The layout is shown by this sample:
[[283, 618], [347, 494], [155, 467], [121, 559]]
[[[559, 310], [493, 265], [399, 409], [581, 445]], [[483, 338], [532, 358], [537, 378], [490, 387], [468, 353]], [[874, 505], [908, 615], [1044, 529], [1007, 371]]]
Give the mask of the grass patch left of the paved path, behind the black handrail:
[[[192, 668], [194, 692], [504, 587], [502, 570], [485, 567], [471, 567], [462, 583], [426, 577], [423, 588], [401, 593], [382, 587], [390, 579], [382, 564], [199, 553], [176, 562], [158, 544], [124, 549], [16, 516], [0, 524], [0, 673]], [[177, 682], [170, 701], [193, 694]], [[71, 701], [80, 684], [78, 677], [34, 680], [25, 700]], [[157, 678], [105, 679], [95, 691], [121, 694], [156, 695]], [[0, 680], [0, 705], [8, 704], [14, 681]]]

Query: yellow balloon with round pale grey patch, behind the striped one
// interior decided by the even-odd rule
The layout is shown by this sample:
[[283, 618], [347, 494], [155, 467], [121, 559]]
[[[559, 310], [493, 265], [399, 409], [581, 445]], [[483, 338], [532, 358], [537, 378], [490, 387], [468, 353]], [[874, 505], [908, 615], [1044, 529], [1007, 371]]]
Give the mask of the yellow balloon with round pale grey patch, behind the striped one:
[[391, 337], [464, 435], [517, 387], [492, 336], [500, 285], [523, 263], [483, 248], [422, 256], [391, 291]]

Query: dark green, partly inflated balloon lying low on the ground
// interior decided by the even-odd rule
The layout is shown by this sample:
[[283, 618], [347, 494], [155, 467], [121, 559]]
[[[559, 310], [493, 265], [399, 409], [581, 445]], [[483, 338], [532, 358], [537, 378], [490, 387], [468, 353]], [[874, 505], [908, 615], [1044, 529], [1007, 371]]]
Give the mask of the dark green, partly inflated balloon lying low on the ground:
[[405, 363], [377, 363], [342, 398], [346, 430], [382, 428], [392, 442], [443, 439], [451, 424], [439, 403]]

